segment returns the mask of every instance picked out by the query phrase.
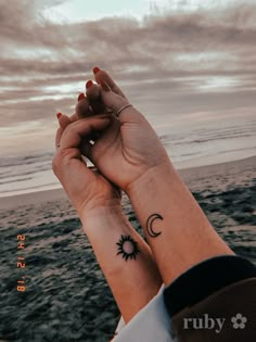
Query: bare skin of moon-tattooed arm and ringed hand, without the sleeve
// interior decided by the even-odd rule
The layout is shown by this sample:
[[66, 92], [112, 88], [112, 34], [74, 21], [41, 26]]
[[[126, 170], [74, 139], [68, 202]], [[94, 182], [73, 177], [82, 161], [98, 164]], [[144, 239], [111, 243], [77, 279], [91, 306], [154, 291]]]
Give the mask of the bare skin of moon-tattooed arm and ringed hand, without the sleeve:
[[[107, 109], [117, 113], [129, 103], [105, 72], [98, 72], [95, 79], [101, 85], [100, 100]], [[87, 90], [89, 98], [92, 89]], [[126, 107], [113, 119], [95, 142], [91, 157], [129, 195], [166, 284], [203, 259], [233, 254], [175, 170], [149, 122], [135, 107]], [[118, 174], [113, 172], [116, 168]]]

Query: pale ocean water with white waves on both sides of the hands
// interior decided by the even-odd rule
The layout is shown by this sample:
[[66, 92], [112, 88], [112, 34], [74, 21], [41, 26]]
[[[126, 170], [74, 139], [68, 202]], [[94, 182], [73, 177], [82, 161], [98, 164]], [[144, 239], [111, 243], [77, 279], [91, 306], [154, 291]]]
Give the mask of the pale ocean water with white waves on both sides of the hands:
[[[256, 121], [159, 135], [177, 168], [245, 159], [256, 154]], [[51, 169], [52, 152], [0, 157], [0, 197], [61, 188]]]

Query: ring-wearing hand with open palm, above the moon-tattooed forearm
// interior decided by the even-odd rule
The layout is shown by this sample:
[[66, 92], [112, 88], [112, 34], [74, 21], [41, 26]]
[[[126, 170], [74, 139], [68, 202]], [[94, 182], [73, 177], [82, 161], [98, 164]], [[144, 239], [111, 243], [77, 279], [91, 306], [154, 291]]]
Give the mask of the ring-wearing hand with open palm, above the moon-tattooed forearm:
[[[90, 103], [117, 113], [129, 101], [104, 71], [97, 71], [95, 80], [87, 83]], [[89, 84], [89, 87], [88, 87]], [[169, 165], [169, 157], [156, 132], [133, 106], [124, 109], [95, 141], [88, 157], [107, 177], [126, 192], [149, 170]]]

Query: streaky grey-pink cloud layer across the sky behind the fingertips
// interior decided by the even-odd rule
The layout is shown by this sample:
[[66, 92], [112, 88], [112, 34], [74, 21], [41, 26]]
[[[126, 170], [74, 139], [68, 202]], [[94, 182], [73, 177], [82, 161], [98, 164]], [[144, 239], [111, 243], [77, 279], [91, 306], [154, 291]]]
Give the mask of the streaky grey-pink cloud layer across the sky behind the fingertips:
[[[166, 112], [170, 99], [175, 113], [253, 106], [256, 5], [249, 1], [221, 11], [152, 14], [142, 22], [55, 24], [43, 16], [46, 5], [62, 2], [1, 2], [1, 126], [50, 125], [54, 111], [68, 113], [84, 90], [75, 85], [91, 78], [94, 65], [108, 69], [153, 122], [152, 109]], [[67, 85], [75, 90], [68, 93]]]

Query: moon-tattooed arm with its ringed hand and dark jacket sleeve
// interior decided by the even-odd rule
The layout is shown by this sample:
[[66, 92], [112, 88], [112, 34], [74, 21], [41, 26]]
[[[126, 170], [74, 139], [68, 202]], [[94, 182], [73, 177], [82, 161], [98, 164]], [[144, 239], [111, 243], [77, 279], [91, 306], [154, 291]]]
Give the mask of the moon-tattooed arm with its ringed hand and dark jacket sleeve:
[[[103, 92], [102, 99], [117, 113], [127, 102], [115, 97], [113, 92], [120, 92], [112, 80], [108, 84], [112, 92]], [[112, 181], [124, 187], [144, 227], [162, 276], [166, 277], [164, 299], [175, 337], [179, 341], [215, 341], [216, 338], [254, 341], [255, 268], [233, 255], [216, 235], [172, 164], [162, 153], [159, 140], [155, 140], [146, 121], [131, 110], [123, 111], [119, 126], [114, 122], [108, 137], [99, 140], [95, 165], [102, 167]], [[101, 150], [100, 142], [104, 142], [102, 156], [97, 151]], [[107, 159], [112, 168], [115, 162], [119, 165], [118, 177], [108, 168]], [[130, 172], [123, 173], [123, 166]], [[247, 319], [243, 330], [232, 325], [238, 313]], [[200, 329], [199, 320], [205, 316], [210, 321], [219, 317], [219, 326], [216, 318], [216, 329]], [[194, 324], [194, 319], [197, 322]]]

